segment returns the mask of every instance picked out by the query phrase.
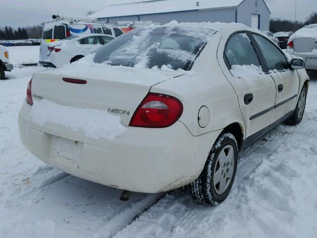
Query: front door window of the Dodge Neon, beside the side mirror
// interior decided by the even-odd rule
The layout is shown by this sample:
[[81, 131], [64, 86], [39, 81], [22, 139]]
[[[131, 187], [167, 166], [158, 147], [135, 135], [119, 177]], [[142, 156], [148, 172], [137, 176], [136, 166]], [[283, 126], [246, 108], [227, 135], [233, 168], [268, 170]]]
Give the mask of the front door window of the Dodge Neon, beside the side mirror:
[[268, 70], [284, 70], [289, 68], [286, 56], [277, 48], [277, 46], [263, 36], [253, 34], [253, 37], [263, 53]]

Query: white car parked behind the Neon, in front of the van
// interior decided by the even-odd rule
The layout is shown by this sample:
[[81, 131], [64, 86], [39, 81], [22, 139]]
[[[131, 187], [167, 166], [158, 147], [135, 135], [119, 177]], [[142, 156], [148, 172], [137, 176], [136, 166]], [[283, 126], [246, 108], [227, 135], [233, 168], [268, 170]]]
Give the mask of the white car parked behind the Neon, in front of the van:
[[82, 34], [42, 43], [39, 63], [46, 67], [61, 67], [91, 54], [113, 39], [113, 36], [104, 34]]

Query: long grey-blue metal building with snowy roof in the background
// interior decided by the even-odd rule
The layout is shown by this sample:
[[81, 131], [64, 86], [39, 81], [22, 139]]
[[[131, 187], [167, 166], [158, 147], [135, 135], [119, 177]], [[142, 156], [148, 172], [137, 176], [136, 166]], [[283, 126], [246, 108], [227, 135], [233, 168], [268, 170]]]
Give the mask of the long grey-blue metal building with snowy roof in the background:
[[270, 10], [264, 0], [147, 0], [110, 5], [91, 16], [114, 25], [117, 21], [210, 21], [268, 30]]

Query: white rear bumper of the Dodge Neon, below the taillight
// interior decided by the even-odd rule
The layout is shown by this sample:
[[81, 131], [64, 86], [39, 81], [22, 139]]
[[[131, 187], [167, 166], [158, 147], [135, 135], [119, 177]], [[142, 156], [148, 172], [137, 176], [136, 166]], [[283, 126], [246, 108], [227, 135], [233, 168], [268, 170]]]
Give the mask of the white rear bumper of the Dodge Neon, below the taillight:
[[136, 192], [168, 191], [195, 180], [220, 133], [192, 136], [177, 121], [160, 129], [128, 127], [110, 142], [54, 124], [39, 126], [30, 112], [24, 103], [19, 131], [33, 155], [71, 175]]

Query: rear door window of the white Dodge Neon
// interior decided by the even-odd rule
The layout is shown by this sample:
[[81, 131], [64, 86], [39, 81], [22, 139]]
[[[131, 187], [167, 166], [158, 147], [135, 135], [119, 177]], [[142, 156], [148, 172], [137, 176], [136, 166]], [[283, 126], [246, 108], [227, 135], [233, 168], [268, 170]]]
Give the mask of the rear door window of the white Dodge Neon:
[[232, 65], [251, 65], [260, 66], [259, 57], [251, 43], [250, 38], [245, 32], [233, 34], [224, 52], [230, 67]]

